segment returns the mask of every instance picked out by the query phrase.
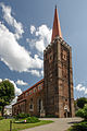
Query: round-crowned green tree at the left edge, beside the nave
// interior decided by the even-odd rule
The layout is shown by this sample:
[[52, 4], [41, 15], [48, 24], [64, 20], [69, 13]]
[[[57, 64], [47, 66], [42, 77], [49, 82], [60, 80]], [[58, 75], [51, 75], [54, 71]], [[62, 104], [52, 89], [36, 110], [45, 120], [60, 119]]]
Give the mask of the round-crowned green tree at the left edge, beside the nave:
[[4, 112], [4, 106], [10, 105], [14, 97], [14, 85], [9, 80], [0, 82], [0, 106], [2, 107], [2, 117]]

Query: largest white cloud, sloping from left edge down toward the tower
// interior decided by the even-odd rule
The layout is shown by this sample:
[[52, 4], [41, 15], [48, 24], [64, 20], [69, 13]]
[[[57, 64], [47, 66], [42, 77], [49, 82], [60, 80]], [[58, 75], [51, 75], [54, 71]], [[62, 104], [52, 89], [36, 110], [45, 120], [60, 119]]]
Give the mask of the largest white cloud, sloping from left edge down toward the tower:
[[24, 47], [20, 46], [11, 33], [2, 23], [0, 23], [0, 58], [11, 69], [15, 71], [28, 71], [30, 68], [42, 68], [42, 60], [35, 55], [30, 57]]

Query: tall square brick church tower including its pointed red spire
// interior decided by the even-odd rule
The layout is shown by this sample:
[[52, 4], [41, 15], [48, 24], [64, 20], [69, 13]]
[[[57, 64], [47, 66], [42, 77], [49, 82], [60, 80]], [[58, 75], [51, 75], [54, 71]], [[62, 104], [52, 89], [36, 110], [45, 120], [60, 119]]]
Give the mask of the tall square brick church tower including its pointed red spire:
[[46, 115], [74, 117], [72, 48], [63, 40], [55, 7], [51, 44], [44, 51]]

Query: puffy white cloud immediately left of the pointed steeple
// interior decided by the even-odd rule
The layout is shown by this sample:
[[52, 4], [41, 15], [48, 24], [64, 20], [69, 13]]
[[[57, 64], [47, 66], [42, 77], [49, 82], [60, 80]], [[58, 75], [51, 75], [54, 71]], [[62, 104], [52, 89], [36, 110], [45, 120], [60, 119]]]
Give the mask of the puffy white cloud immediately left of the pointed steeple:
[[[32, 26], [35, 28], [35, 26]], [[35, 33], [35, 39], [26, 39], [29, 43], [30, 47], [35, 47], [37, 51], [44, 52], [44, 49], [47, 45], [50, 44], [51, 41], [51, 34], [52, 29], [50, 29], [47, 25], [41, 25], [32, 32], [30, 28], [30, 34]], [[34, 34], [33, 34], [34, 35]]]

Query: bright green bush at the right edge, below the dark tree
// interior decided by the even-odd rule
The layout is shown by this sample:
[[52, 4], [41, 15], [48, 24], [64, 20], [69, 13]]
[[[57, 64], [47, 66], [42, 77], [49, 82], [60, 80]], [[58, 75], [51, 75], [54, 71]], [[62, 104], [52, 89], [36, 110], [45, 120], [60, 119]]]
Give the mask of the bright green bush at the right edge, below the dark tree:
[[87, 120], [87, 104], [84, 106], [83, 109], [78, 109], [78, 111], [76, 112], [76, 116]]

